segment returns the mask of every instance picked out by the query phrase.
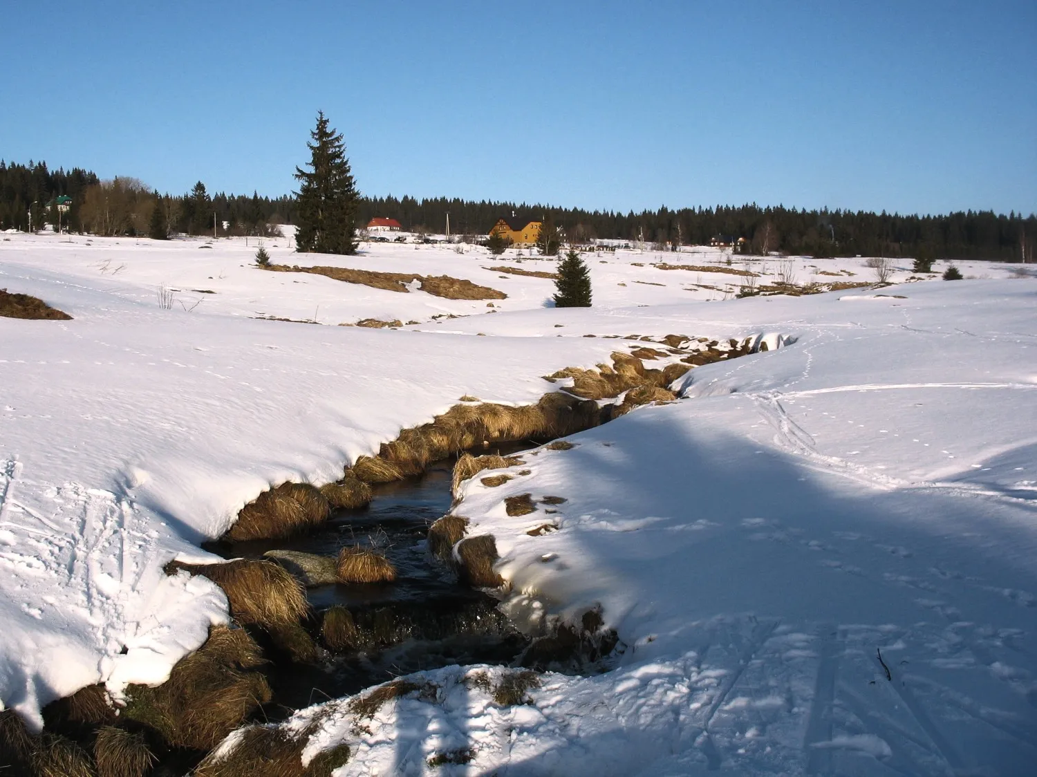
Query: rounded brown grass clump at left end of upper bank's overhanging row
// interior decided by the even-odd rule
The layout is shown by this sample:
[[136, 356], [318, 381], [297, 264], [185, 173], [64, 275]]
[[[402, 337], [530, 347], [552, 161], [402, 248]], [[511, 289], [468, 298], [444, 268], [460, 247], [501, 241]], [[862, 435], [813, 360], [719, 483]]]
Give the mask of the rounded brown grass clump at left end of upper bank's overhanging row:
[[287, 537], [328, 520], [331, 505], [307, 483], [282, 483], [264, 491], [237, 514], [226, 537], [233, 542]]

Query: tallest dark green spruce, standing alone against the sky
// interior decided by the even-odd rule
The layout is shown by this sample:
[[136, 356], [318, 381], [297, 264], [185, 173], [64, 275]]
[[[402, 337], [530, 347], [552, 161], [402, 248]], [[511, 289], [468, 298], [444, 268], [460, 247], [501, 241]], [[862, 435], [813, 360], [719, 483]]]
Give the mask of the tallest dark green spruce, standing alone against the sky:
[[313, 142], [306, 146], [312, 171], [296, 168], [296, 178], [301, 182], [296, 246], [315, 253], [356, 253], [359, 195], [342, 136], [329, 129], [324, 111], [318, 111], [310, 137]]

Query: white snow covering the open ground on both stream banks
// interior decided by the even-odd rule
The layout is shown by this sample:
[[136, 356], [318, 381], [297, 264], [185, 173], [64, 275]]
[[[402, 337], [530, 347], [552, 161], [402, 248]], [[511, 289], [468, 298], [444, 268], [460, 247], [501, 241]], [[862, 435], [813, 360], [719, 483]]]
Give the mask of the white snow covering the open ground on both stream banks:
[[[993, 279], [721, 301], [728, 292], [704, 286], [736, 290], [738, 276], [651, 267], [723, 269], [718, 252], [617, 251], [590, 260], [594, 308], [556, 310], [550, 280], [483, 269], [546, 260], [393, 244], [318, 257], [267, 241], [275, 262], [507, 293], [488, 314], [480, 301], [262, 272], [244, 241], [8, 237], [0, 287], [74, 316], [0, 318], [0, 700], [30, 720], [89, 683], [159, 682], [196, 647], [226, 617], [223, 595], [162, 565], [203, 556], [196, 544], [268, 484], [334, 479], [464, 394], [530, 401], [552, 388], [538, 376], [626, 344], [604, 335], [768, 333], [786, 346], [698, 367], [678, 384], [685, 398], [527, 454], [531, 473], [503, 487], [465, 489], [457, 511], [496, 536], [508, 611], [599, 607], [622, 640], [617, 668], [548, 675], [514, 707], [459, 682], [477, 669], [429, 672], [437, 700], [387, 703], [364, 727], [332, 702], [341, 714], [321, 718], [312, 749], [352, 745], [337, 775], [1037, 762], [1032, 278], [976, 262], [959, 268]], [[870, 281], [863, 263], [750, 268]], [[908, 276], [905, 265], [894, 278]], [[160, 307], [160, 285], [185, 304]], [[524, 493], [567, 501], [507, 517], [503, 499]], [[545, 523], [557, 530], [526, 533]], [[427, 766], [463, 748], [469, 765]]]

